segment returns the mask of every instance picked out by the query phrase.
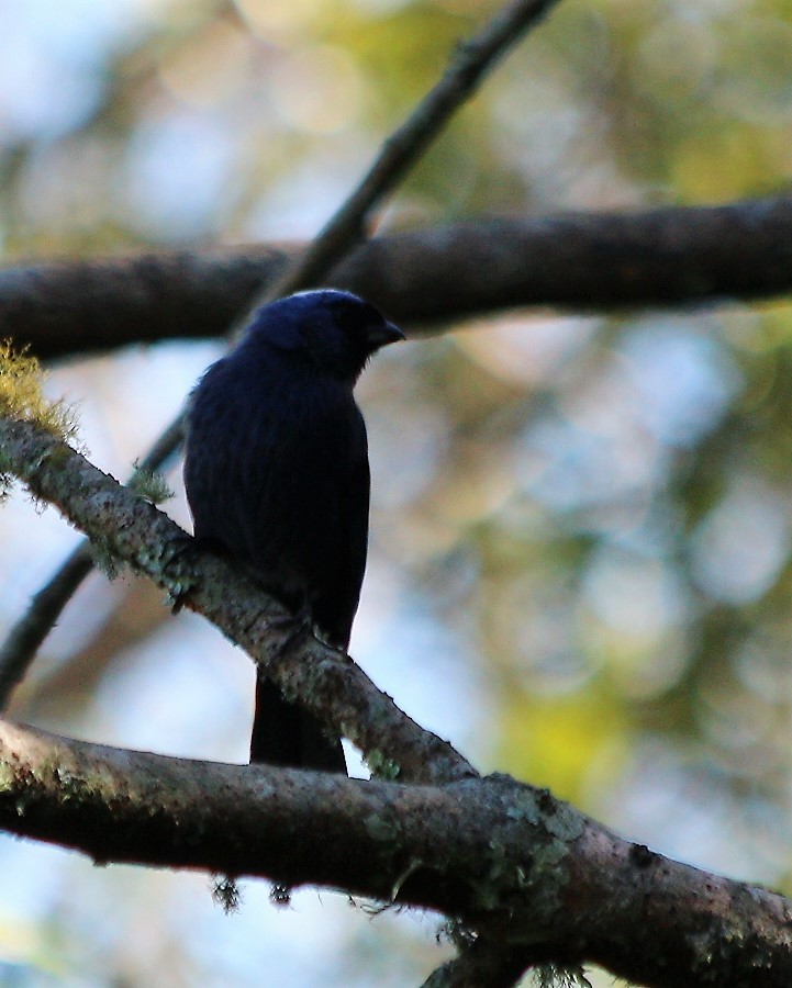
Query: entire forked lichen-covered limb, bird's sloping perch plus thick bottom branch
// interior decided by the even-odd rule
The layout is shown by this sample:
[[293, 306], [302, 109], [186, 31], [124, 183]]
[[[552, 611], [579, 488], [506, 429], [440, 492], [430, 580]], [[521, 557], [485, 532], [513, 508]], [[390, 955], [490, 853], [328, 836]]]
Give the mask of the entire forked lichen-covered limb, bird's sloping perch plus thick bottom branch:
[[[101, 551], [186, 593], [375, 767], [398, 765], [400, 779], [425, 784], [179, 762], [5, 726], [0, 826], [101, 861], [265, 875], [437, 909], [503, 944], [503, 984], [536, 956], [595, 961], [658, 986], [789, 984], [792, 914], [779, 896], [620, 841], [545, 791], [479, 779], [346, 656], [315, 640], [281, 653], [276, 602], [223, 560], [186, 554], [178, 526], [79, 453], [8, 419], [0, 450], [2, 471]], [[491, 962], [481, 950], [447, 974]]]

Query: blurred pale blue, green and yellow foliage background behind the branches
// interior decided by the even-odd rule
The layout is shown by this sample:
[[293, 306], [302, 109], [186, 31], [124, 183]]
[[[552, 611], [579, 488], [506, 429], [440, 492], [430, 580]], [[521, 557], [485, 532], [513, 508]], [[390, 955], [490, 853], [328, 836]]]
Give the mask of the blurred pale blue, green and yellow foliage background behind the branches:
[[[494, 9], [0, 0], [3, 262], [310, 236]], [[565, 0], [383, 227], [784, 189], [791, 66], [783, 0]], [[789, 304], [448, 329], [361, 382], [373, 505], [353, 654], [482, 770], [792, 894]], [[49, 386], [124, 476], [221, 351], [131, 348]], [[189, 524], [181, 493], [167, 508]], [[21, 494], [5, 505], [2, 626], [76, 538]], [[252, 696], [213, 629], [94, 575], [12, 712], [242, 762]], [[401, 986], [449, 955], [436, 918], [326, 892], [276, 910], [243, 883], [226, 917], [205, 876], [11, 839], [0, 869], [0, 985]]]

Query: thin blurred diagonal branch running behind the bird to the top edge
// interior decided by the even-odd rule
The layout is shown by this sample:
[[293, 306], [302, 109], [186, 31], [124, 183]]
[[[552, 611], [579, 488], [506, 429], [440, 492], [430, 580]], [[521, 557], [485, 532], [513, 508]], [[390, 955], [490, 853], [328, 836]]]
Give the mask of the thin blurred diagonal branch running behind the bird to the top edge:
[[[386, 141], [373, 165], [352, 195], [317, 235], [305, 254], [286, 276], [259, 292], [253, 305], [231, 327], [233, 333], [256, 307], [278, 295], [317, 283], [362, 236], [367, 217], [375, 206], [402, 180], [409, 168], [439, 134], [454, 112], [478, 87], [487, 71], [516, 43], [557, 0], [514, 0], [479, 32], [457, 49], [443, 78], [419, 103], [408, 120]], [[182, 415], [170, 423], [154, 449], [146, 456], [148, 469], [157, 470], [176, 451], [180, 442]], [[76, 562], [85, 558], [80, 547], [60, 568], [47, 586], [33, 598], [27, 613], [11, 629], [0, 650], [0, 709], [8, 692], [24, 676], [35, 652], [54, 626], [64, 607], [76, 593], [90, 566]]]

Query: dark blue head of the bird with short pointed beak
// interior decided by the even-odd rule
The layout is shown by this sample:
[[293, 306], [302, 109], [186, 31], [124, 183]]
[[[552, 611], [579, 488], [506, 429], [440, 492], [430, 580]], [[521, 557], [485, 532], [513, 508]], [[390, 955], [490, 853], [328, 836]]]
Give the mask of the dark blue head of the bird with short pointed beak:
[[370, 302], [320, 289], [256, 310], [247, 339], [305, 353], [323, 371], [354, 384], [369, 357], [404, 334]]

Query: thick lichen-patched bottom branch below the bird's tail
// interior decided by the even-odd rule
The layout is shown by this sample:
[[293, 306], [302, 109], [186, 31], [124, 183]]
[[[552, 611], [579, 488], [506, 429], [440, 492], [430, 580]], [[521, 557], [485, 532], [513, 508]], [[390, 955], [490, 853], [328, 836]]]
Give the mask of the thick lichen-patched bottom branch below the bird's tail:
[[0, 827], [103, 864], [264, 876], [437, 910], [510, 959], [525, 948], [596, 962], [658, 988], [792, 984], [792, 903], [629, 844], [507, 776], [360, 782], [0, 721]]

